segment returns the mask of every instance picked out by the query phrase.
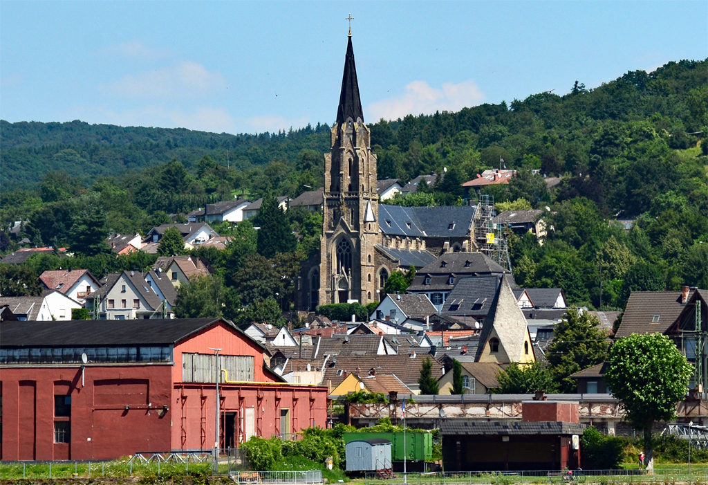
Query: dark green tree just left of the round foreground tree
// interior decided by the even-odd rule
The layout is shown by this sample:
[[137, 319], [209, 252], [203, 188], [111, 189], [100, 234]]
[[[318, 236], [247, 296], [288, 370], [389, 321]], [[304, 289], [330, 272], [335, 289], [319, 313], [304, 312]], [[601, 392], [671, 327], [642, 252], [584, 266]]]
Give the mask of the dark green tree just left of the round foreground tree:
[[605, 362], [609, 349], [610, 341], [598, 318], [572, 307], [554, 329], [546, 358], [561, 390], [575, 392], [577, 383], [570, 375]]

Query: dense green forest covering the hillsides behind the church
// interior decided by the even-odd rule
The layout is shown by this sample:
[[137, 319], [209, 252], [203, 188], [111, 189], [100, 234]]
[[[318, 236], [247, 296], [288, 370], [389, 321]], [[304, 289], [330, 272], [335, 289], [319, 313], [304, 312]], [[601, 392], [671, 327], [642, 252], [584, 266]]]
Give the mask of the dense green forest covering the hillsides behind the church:
[[[565, 96], [538, 93], [457, 113], [367, 121], [379, 178], [445, 173], [397, 203], [474, 202], [479, 194], [465, 191], [464, 181], [501, 160], [518, 169], [508, 186], [484, 189], [500, 208], [549, 209], [545, 244], [510, 236], [517, 282], [563, 287], [575, 304], [621, 309], [632, 290], [708, 287], [707, 105], [708, 60], [681, 61], [649, 74], [628, 72], [596, 89], [576, 82]], [[0, 121], [0, 136], [2, 227], [28, 221], [22, 237], [69, 246], [77, 258], [104, 258], [96, 254], [105, 248], [92, 240], [145, 234], [169, 222], [169, 214], [179, 219], [205, 203], [321, 187], [329, 149], [328, 125], [217, 135]], [[549, 189], [544, 176], [562, 176], [561, 183]], [[316, 220], [299, 211], [282, 218], [299, 237], [293, 257], [307, 256], [316, 246]], [[636, 221], [625, 230], [616, 219]], [[248, 234], [244, 240], [258, 252], [251, 229], [220, 230]], [[16, 247], [16, 239], [0, 234], [0, 251]], [[210, 256], [227, 287], [236, 285], [234, 263], [227, 263], [232, 250]], [[101, 263], [98, 273], [98, 266], [108, 268]]]

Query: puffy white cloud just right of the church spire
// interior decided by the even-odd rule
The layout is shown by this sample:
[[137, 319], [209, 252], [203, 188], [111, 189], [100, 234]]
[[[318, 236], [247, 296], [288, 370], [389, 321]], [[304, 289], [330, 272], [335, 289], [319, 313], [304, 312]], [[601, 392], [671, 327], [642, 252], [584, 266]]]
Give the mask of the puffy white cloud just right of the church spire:
[[371, 103], [368, 111], [371, 120], [396, 120], [409, 114], [457, 111], [482, 101], [484, 93], [472, 80], [459, 84], [445, 83], [441, 89], [430, 87], [425, 81], [413, 81], [405, 87], [401, 96]]

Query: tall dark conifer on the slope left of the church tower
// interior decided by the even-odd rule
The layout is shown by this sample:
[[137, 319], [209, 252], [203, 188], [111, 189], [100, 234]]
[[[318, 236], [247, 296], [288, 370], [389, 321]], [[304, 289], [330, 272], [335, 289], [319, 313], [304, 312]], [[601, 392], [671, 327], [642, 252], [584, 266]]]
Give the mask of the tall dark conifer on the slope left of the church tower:
[[263, 196], [261, 210], [258, 212], [258, 254], [273, 258], [277, 253], [295, 251], [297, 240], [290, 229], [290, 222], [278, 206], [278, 200], [273, 194]]

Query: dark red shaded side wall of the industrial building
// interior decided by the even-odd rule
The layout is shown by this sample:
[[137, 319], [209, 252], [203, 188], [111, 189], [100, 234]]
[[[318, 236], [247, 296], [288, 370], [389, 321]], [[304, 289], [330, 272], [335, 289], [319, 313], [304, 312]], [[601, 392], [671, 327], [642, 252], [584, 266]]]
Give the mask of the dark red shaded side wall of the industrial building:
[[[2, 460], [103, 460], [168, 451], [170, 365], [3, 367]], [[54, 396], [72, 396], [55, 418]], [[150, 405], [150, 406], [149, 406]], [[125, 406], [130, 406], [125, 410]], [[164, 415], [164, 416], [161, 416]], [[54, 422], [71, 422], [71, 443], [54, 443]]]

